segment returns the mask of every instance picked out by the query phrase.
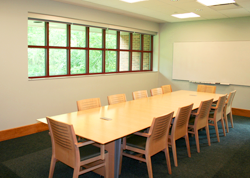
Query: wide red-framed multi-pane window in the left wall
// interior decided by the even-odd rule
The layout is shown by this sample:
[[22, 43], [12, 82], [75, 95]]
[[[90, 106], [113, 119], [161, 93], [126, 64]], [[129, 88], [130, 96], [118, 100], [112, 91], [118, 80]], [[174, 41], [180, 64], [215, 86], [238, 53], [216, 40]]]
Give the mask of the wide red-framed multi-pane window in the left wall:
[[152, 71], [153, 36], [28, 20], [28, 76]]

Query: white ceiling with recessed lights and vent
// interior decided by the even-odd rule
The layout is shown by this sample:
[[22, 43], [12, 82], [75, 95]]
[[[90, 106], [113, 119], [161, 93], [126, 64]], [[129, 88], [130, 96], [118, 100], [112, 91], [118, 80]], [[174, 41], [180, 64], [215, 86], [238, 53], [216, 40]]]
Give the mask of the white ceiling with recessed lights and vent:
[[[148, 0], [126, 3], [120, 0], [54, 0], [157, 23], [183, 22], [250, 16], [250, 0], [235, 0], [236, 4], [204, 6], [196, 0]], [[178, 19], [176, 13], [194, 12], [200, 17]]]

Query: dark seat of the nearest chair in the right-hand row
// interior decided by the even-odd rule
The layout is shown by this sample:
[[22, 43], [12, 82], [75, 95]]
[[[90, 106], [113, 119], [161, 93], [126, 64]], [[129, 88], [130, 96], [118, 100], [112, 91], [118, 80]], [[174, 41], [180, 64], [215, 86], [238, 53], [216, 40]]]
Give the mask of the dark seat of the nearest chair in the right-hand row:
[[145, 150], [146, 148], [146, 137], [142, 137], [139, 135], [131, 135], [130, 137], [127, 137], [127, 145], [135, 148], [139, 148], [142, 150]]

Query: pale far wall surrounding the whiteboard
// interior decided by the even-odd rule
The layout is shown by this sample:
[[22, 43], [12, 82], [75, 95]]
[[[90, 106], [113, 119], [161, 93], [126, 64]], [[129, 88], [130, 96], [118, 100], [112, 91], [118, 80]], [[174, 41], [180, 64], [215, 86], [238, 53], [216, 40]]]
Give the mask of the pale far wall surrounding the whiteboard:
[[[188, 81], [172, 80], [174, 42], [245, 40], [250, 40], [250, 17], [162, 24], [160, 27], [159, 86], [171, 84], [173, 90], [196, 90], [197, 88], [197, 84]], [[240, 59], [235, 60], [240, 62]], [[227, 64], [225, 64], [225, 67], [227, 67]], [[211, 72], [216, 71], [211, 68]], [[248, 77], [250, 80], [250, 76]], [[250, 109], [250, 87], [216, 86], [216, 93], [229, 93], [232, 90], [237, 90], [233, 107]]]

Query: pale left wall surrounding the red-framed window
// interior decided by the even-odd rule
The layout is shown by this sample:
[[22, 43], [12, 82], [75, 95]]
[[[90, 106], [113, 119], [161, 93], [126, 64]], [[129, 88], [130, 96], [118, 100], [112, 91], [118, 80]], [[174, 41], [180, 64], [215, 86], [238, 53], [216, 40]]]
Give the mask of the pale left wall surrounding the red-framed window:
[[0, 130], [33, 124], [45, 116], [76, 111], [76, 101], [80, 99], [100, 97], [102, 105], [106, 105], [108, 95], [125, 93], [131, 100], [132, 91], [149, 91], [158, 85], [158, 72], [29, 81], [27, 57], [28, 12], [149, 31], [158, 31], [157, 23], [51, 0], [0, 1], [0, 9]]

